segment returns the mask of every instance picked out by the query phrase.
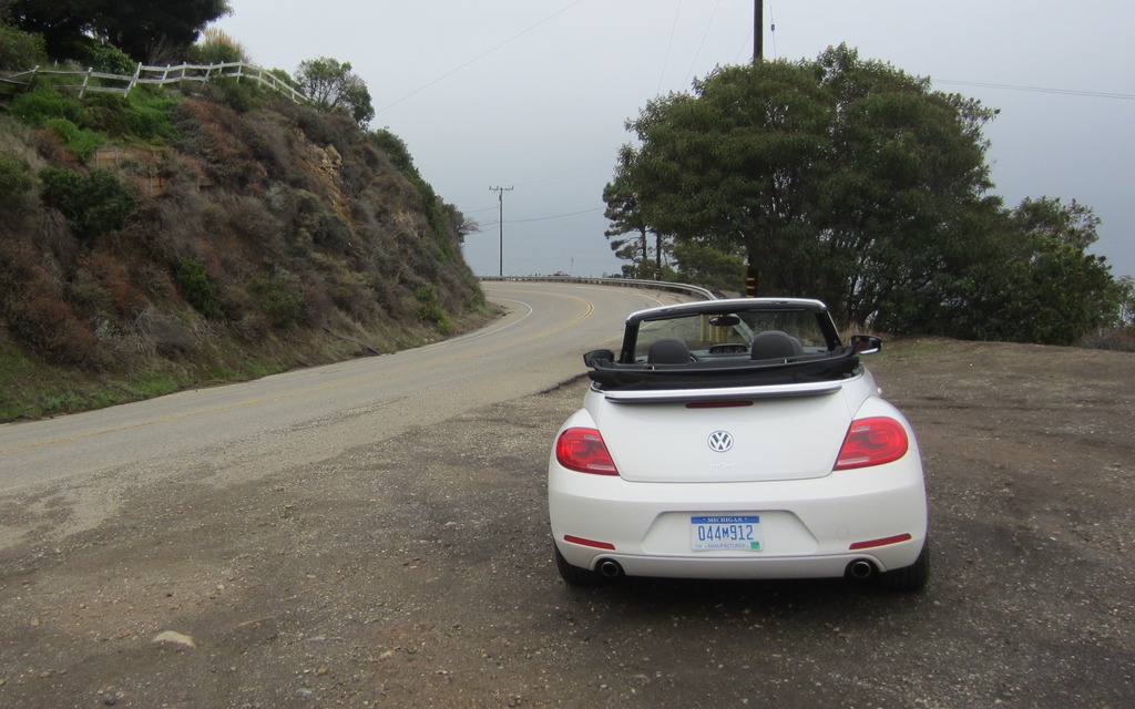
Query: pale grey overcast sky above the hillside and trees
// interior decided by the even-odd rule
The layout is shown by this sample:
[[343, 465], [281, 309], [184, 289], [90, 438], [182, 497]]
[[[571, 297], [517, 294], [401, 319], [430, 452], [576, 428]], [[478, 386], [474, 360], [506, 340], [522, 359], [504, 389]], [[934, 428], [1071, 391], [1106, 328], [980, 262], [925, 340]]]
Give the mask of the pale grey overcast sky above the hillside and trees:
[[[603, 187], [646, 103], [753, 56], [754, 0], [229, 0], [254, 64], [348, 61], [442, 197], [482, 225], [479, 276], [617, 273]], [[1130, 0], [765, 0], [768, 59], [841, 42], [1001, 110], [995, 192], [1077, 200], [1093, 252], [1135, 275], [1135, 5]]]

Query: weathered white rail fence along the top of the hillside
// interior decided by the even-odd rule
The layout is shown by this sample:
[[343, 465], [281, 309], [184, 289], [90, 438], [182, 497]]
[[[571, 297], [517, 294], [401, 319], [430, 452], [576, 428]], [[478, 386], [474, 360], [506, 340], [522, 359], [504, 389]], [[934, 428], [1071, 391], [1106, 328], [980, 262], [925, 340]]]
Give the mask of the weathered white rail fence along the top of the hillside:
[[79, 98], [86, 92], [120, 93], [124, 96], [138, 84], [179, 84], [182, 82], [208, 82], [213, 78], [229, 77], [237, 81], [253, 81], [272, 91], [283, 93], [296, 103], [308, 100], [303, 92], [289, 82], [275, 74], [243, 61], [226, 61], [222, 64], [193, 65], [182, 64], [166, 67], [148, 67], [138, 65], [133, 75], [107, 74], [94, 69], [66, 70], [41, 69], [35, 67], [30, 71], [0, 76], [0, 82], [7, 84], [27, 85], [35, 77], [45, 77], [56, 83], [59, 88], [78, 91]]

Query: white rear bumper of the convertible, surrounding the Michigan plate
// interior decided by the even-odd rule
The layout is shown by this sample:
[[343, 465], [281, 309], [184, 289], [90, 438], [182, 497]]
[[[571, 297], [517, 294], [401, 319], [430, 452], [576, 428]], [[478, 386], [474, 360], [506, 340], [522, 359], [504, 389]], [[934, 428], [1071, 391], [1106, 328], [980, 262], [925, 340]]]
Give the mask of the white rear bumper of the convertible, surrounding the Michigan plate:
[[[877, 571], [915, 563], [926, 539], [917, 456], [818, 479], [634, 483], [566, 471], [553, 459], [548, 513], [569, 564], [615, 560], [633, 576], [816, 579], [856, 560]], [[762, 551], [692, 551], [690, 517], [759, 515]], [[579, 541], [568, 541], [568, 538]]]

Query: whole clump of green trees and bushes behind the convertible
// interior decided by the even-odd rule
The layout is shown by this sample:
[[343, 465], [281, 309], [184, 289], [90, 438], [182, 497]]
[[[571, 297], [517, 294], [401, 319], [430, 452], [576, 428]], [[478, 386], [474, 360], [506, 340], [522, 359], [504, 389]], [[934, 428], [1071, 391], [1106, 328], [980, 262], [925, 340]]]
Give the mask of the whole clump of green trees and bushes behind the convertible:
[[1090, 252], [1091, 208], [993, 194], [995, 115], [848, 47], [722, 67], [628, 121], [607, 235], [630, 276], [748, 277], [843, 326], [1135, 351], [1133, 284]]

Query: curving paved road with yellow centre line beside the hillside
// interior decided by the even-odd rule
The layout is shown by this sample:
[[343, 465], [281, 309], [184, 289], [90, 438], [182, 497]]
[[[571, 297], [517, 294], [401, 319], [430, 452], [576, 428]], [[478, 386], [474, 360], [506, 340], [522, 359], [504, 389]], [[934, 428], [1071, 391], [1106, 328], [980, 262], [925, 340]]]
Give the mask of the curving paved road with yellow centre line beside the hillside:
[[631, 310], [673, 296], [632, 288], [488, 282], [507, 315], [455, 340], [258, 381], [184, 391], [34, 423], [0, 425], [0, 492], [186, 462], [239, 480], [327, 459], [582, 371], [581, 353]]

